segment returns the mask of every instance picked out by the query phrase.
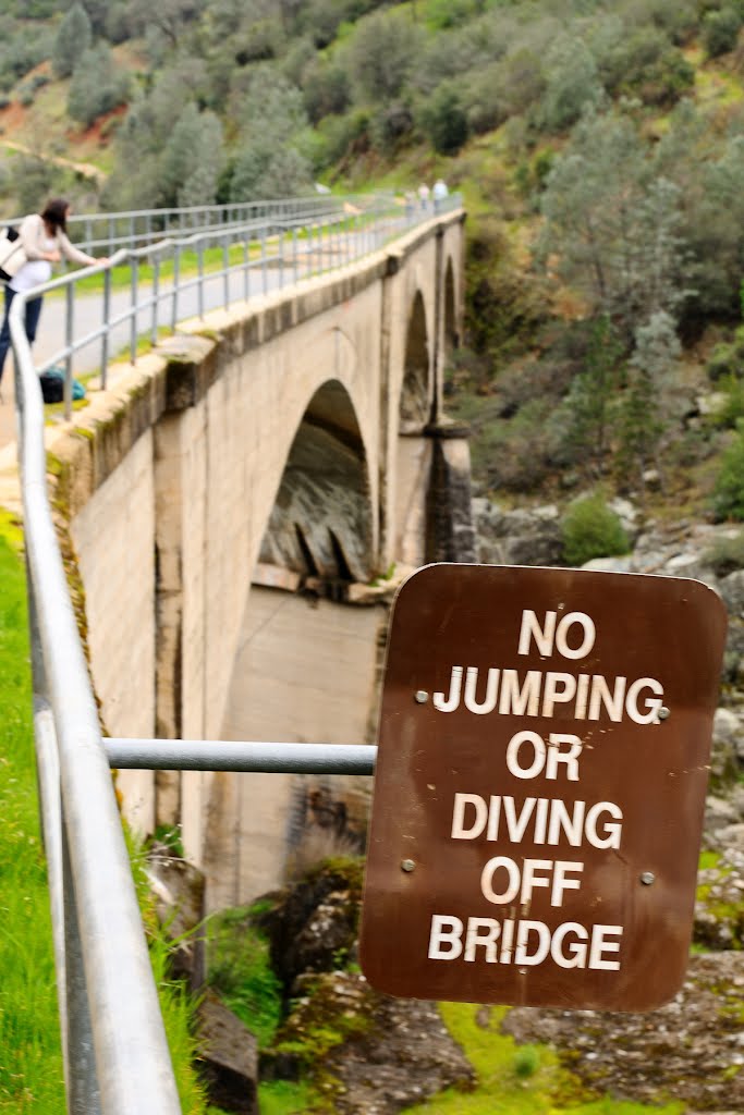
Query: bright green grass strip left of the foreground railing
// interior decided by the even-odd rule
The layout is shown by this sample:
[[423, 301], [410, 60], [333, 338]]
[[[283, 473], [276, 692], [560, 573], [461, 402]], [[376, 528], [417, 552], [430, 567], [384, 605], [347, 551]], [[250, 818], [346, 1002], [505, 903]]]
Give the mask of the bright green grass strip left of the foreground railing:
[[0, 513], [0, 1112], [65, 1109], [20, 532]]

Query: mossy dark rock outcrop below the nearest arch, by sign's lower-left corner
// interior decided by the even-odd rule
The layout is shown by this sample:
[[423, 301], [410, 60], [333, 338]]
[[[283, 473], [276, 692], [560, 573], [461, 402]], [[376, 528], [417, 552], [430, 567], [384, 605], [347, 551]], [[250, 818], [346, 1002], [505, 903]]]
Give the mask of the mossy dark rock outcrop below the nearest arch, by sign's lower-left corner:
[[474, 1075], [435, 1004], [374, 991], [356, 961], [361, 861], [329, 861], [270, 895], [269, 937], [288, 1004], [262, 1078], [309, 1077], [341, 1115], [395, 1115]]

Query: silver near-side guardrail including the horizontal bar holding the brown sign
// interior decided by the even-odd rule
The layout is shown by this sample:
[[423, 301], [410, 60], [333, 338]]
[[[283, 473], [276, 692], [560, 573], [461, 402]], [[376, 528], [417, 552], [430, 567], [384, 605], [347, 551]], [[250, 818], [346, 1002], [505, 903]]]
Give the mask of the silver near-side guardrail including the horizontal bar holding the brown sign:
[[[453, 200], [457, 205], [458, 200]], [[276, 215], [264, 230], [262, 248], [252, 259], [250, 250], [239, 270], [274, 266], [296, 281], [316, 272], [330, 258], [336, 266], [370, 251], [389, 236], [405, 231], [429, 213], [402, 214], [388, 203], [363, 213], [307, 214], [281, 222]], [[354, 221], [350, 220], [354, 217]], [[359, 220], [356, 220], [356, 219]], [[230, 243], [255, 243], [257, 225], [199, 233], [183, 241], [171, 240], [168, 250], [203, 249], [234, 237]], [[271, 232], [269, 231], [271, 230]], [[303, 230], [308, 251], [299, 251]], [[274, 237], [269, 248], [270, 237]], [[242, 241], [241, 241], [242, 237]], [[162, 249], [165, 250], [164, 248]], [[157, 256], [161, 251], [155, 253]], [[224, 249], [229, 251], [229, 245]], [[142, 253], [153, 249], [126, 249], [137, 274]], [[271, 262], [270, 262], [271, 261]], [[218, 279], [233, 272], [228, 254]], [[35, 734], [39, 770], [40, 807], [48, 863], [52, 935], [65, 1056], [69, 1115], [178, 1115], [181, 1107], [142, 920], [124, 842], [109, 764], [138, 768], [332, 772], [369, 774], [373, 747], [336, 745], [234, 744], [187, 740], [103, 740], [77, 621], [67, 586], [47, 493], [44, 442], [44, 403], [38, 369], [23, 330], [29, 298], [56, 288], [68, 292], [87, 274], [100, 268], [55, 280], [16, 295], [10, 329], [16, 356], [19, 463], [26, 533], [27, 580], [35, 690]], [[155, 275], [157, 271], [155, 271]], [[110, 275], [110, 271], [106, 272]], [[199, 287], [196, 277], [186, 282]], [[107, 287], [105, 288], [108, 289]], [[132, 281], [132, 317], [144, 299], [144, 288]], [[68, 293], [68, 306], [73, 294]], [[225, 295], [226, 297], [226, 295]], [[104, 293], [104, 298], [106, 294]], [[154, 277], [147, 307], [175, 306], [178, 291], [163, 293]], [[73, 357], [89, 336], [70, 333], [68, 312], [65, 353], [68, 379]], [[105, 316], [104, 330], [94, 332], [103, 345], [107, 367], [106, 336], [114, 317]], [[136, 320], [136, 317], [135, 319]], [[156, 319], [155, 319], [156, 320]], [[69, 382], [67, 398], [69, 403]]]

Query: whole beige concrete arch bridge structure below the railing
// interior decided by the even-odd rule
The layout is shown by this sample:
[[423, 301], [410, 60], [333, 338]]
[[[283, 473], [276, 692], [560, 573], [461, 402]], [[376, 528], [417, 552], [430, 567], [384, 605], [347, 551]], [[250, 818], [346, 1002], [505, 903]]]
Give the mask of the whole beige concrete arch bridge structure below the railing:
[[[393, 566], [473, 559], [467, 444], [442, 401], [463, 220], [433, 215], [183, 323], [54, 434], [108, 734], [369, 740], [385, 613], [338, 601], [374, 598]], [[141, 831], [181, 826], [218, 906], [274, 885], [310, 830], [359, 840], [361, 782], [143, 770], [117, 785]]]

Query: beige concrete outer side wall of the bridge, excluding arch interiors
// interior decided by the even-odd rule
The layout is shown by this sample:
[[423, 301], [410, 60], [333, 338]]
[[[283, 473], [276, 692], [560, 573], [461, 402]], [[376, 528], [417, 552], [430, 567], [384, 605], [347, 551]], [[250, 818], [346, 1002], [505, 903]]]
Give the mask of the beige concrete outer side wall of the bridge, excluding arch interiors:
[[[50, 435], [52, 498], [109, 734], [220, 735], [261, 542], [294, 438], [329, 382], [354, 414], [351, 442], [332, 415], [310, 420], [327, 421], [366, 468], [369, 569], [397, 556], [412, 308], [418, 300], [425, 324], [431, 424], [441, 410], [446, 260], [458, 320], [462, 214], [417, 229], [395, 252], [184, 323], [94, 395], [74, 427]], [[431, 456], [418, 454], [424, 471]], [[425, 497], [421, 476], [405, 483]], [[409, 556], [423, 561], [421, 534]], [[187, 816], [186, 843], [201, 860], [210, 776], [119, 778], [137, 827]]]

